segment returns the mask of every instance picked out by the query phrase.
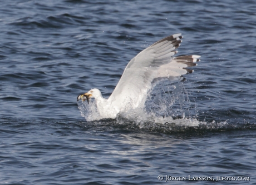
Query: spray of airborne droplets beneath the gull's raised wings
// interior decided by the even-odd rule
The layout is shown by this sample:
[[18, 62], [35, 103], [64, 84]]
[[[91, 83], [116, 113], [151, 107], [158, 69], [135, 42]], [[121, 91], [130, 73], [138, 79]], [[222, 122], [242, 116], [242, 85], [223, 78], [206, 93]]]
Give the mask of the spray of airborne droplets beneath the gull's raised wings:
[[155, 113], [156, 117], [196, 117], [195, 104], [190, 102], [188, 91], [181, 82], [165, 81], [152, 88], [147, 95], [145, 111]]

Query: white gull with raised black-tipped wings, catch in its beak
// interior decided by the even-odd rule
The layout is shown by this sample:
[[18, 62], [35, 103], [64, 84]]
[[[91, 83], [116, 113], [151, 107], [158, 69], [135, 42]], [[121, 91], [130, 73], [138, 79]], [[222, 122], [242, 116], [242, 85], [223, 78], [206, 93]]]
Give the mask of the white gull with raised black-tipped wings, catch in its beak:
[[183, 75], [193, 72], [187, 67], [196, 66], [195, 62], [200, 61], [198, 55], [174, 57], [181, 38], [181, 33], [165, 37], [132, 58], [109, 99], [102, 97], [100, 90], [95, 88], [77, 96], [77, 101], [82, 99], [89, 103], [90, 98], [95, 98], [101, 118], [116, 118], [120, 112], [143, 108], [147, 92], [157, 82], [184, 81]]

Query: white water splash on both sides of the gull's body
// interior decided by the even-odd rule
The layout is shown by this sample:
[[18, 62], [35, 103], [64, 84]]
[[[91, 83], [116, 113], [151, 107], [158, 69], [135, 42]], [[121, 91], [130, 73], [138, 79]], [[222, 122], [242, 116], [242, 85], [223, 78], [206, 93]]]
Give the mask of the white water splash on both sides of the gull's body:
[[[102, 119], [97, 111], [94, 99], [91, 100], [90, 104], [87, 104], [87, 102], [78, 103], [78, 108], [87, 121]], [[191, 117], [191, 115], [194, 115], [194, 117]], [[116, 121], [123, 124], [124, 120], [126, 122], [129, 120], [129, 122], [141, 126], [145, 122], [162, 124], [175, 122], [179, 125], [198, 126], [195, 117], [195, 106], [191, 105], [184, 84], [181, 82], [162, 82], [147, 93], [144, 108], [128, 109], [125, 112], [120, 112]]]

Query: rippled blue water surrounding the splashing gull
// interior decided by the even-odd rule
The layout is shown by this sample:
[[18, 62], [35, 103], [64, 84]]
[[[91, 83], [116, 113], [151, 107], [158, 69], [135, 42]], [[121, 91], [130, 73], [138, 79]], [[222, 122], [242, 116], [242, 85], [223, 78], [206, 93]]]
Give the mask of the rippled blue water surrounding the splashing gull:
[[[2, 2], [0, 184], [256, 184], [255, 12], [229, 0]], [[169, 101], [155, 89], [147, 114], [81, 116], [78, 94], [109, 97], [132, 57], [174, 33], [201, 62]]]

